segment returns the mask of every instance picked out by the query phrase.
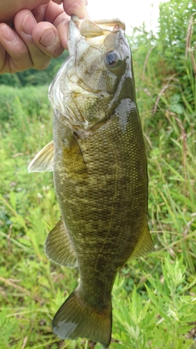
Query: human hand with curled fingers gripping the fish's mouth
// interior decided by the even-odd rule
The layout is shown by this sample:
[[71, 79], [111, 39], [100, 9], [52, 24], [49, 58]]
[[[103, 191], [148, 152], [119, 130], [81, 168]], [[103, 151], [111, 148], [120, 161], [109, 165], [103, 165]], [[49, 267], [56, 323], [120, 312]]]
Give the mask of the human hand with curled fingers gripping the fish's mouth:
[[[10, 1], [16, 3], [15, 0]], [[67, 48], [69, 15], [86, 17], [85, 0], [64, 0], [64, 3], [61, 0], [47, 3], [48, 1], [17, 1], [25, 3], [25, 8], [29, 10], [20, 10], [15, 15], [12, 8], [10, 15], [4, 13], [6, 20], [0, 24], [0, 74], [15, 73], [29, 68], [44, 69], [50, 63], [50, 57], [59, 57], [63, 49]], [[38, 2], [42, 4], [35, 7]], [[1, 3], [0, 22], [3, 13]], [[63, 6], [57, 3], [63, 3]], [[63, 11], [63, 7], [66, 12]], [[5, 24], [12, 22], [13, 18], [15, 29]]]

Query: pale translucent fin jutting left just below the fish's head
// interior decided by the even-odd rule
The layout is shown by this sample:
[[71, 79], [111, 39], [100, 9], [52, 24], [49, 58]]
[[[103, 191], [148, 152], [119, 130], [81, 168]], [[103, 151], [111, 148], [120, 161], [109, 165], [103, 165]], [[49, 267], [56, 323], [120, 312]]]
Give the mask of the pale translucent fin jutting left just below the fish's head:
[[53, 171], [53, 159], [54, 159], [54, 143], [52, 142], [45, 145], [38, 154], [33, 158], [28, 167], [28, 173], [30, 172], [52, 172]]

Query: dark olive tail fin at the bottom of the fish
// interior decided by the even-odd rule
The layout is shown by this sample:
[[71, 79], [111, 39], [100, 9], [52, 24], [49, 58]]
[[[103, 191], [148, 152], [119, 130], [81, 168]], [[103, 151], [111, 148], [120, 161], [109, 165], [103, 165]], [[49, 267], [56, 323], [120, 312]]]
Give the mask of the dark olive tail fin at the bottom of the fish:
[[52, 330], [61, 339], [85, 337], [107, 348], [111, 341], [112, 303], [108, 309], [98, 311], [84, 302], [75, 290], [54, 316]]

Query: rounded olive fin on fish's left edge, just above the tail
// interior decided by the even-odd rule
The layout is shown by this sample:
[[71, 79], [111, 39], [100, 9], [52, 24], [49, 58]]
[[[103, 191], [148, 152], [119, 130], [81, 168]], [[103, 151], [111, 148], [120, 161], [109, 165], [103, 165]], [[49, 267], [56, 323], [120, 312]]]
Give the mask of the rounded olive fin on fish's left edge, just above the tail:
[[62, 218], [47, 235], [45, 253], [56, 264], [77, 267], [75, 250]]

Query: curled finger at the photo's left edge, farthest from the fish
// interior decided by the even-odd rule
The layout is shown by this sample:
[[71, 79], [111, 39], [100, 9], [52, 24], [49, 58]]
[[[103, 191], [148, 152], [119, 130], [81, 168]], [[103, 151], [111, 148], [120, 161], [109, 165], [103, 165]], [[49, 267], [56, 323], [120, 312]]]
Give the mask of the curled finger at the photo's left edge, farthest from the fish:
[[31, 68], [29, 50], [20, 36], [8, 25], [0, 24], [0, 73], [16, 73]]

